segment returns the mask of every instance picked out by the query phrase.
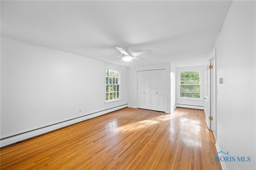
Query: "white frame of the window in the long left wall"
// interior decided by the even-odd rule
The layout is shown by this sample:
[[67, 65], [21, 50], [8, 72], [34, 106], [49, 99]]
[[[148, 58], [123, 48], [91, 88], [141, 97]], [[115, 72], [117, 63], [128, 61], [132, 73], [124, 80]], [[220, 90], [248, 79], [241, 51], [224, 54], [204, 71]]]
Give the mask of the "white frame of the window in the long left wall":
[[[106, 70], [114, 70], [114, 71], [117, 71], [118, 72], [118, 84], [115, 84], [115, 85], [118, 85], [118, 98], [116, 98], [116, 99], [111, 99], [111, 100], [106, 100], [106, 98], [107, 98], [107, 85], [111, 85], [111, 84], [106, 84], [106, 77], [109, 77], [109, 76], [106, 76]], [[104, 95], [104, 97], [105, 97], [105, 104], [106, 103], [112, 103], [112, 102], [116, 102], [116, 101], [119, 101], [119, 100], [121, 100], [121, 86], [120, 86], [120, 84], [121, 84], [121, 81], [120, 81], [120, 70], [119, 69], [116, 69], [116, 68], [109, 68], [109, 67], [105, 67], [105, 72], [104, 72], [104, 74], [105, 74], [105, 76], [104, 76], [104, 81], [105, 81], [105, 85], [104, 85], [104, 88], [105, 88], [105, 95]], [[114, 85], [114, 84], [112, 84], [112, 85]]]

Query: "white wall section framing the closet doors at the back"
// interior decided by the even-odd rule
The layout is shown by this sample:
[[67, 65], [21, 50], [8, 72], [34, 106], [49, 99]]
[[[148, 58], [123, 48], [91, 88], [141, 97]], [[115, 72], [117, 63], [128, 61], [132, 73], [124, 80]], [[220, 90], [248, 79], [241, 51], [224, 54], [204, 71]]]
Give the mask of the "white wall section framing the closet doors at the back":
[[171, 101], [170, 101], [170, 64], [156, 64], [147, 66], [134, 66], [129, 69], [129, 84], [128, 84], [128, 106], [137, 108], [137, 71], [142, 70], [157, 70], [166, 69], [166, 113], [171, 113]]

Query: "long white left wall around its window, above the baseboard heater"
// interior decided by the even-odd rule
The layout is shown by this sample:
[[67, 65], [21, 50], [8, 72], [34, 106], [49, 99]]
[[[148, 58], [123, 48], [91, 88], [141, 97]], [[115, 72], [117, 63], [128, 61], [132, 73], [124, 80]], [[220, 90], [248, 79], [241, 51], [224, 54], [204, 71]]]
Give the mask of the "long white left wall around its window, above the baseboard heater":
[[[118, 102], [104, 103], [105, 67], [121, 72]], [[127, 77], [126, 67], [1, 37], [1, 139], [127, 104]]]

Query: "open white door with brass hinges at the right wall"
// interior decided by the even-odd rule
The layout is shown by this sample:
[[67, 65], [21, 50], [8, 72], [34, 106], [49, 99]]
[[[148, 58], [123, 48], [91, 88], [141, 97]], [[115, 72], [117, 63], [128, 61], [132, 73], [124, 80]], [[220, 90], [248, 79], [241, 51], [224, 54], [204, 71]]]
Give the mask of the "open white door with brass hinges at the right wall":
[[204, 105], [204, 112], [205, 112], [205, 121], [206, 121], [206, 124], [208, 126], [208, 129], [211, 129], [211, 121], [209, 119], [209, 117], [211, 116], [211, 107], [210, 107], [210, 104], [211, 104], [211, 101], [210, 101], [210, 95], [211, 95], [211, 87], [210, 87], [210, 68], [209, 68], [209, 65], [210, 65], [210, 60], [208, 62], [208, 64], [206, 65], [206, 68], [205, 68], [205, 97], [204, 97], [204, 100], [205, 100], [205, 105]]

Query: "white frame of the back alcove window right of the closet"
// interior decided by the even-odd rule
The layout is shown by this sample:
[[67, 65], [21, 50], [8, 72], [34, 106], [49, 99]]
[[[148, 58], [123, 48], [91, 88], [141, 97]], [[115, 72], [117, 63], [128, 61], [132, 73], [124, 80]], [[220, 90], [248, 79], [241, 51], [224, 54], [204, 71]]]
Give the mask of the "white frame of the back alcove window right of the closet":
[[[180, 96], [180, 86], [181, 85], [186, 85], [185, 83], [184, 84], [180, 84], [180, 80], [181, 80], [181, 78], [180, 78], [180, 73], [181, 72], [199, 72], [199, 84], [188, 84], [188, 85], [199, 85], [199, 88], [200, 88], [200, 98], [188, 98], [188, 97], [181, 97]], [[178, 75], [179, 75], [179, 77], [178, 77], [178, 80], [179, 80], [179, 82], [178, 82], [178, 87], [179, 87], [179, 89], [178, 89], [178, 98], [179, 99], [182, 99], [182, 100], [202, 100], [202, 70], [201, 69], [186, 69], [186, 70], [179, 70], [178, 71]]]

